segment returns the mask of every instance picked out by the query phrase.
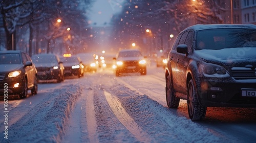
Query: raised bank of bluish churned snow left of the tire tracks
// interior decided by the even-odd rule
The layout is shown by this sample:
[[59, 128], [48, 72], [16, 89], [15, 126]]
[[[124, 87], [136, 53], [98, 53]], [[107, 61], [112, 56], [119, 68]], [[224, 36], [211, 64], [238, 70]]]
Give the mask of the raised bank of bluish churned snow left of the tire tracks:
[[[64, 86], [46, 95], [28, 114], [10, 127], [10, 142], [60, 142], [71, 108], [81, 93], [79, 85]], [[12, 132], [11, 132], [12, 131]], [[2, 140], [0, 142], [4, 142]]]

